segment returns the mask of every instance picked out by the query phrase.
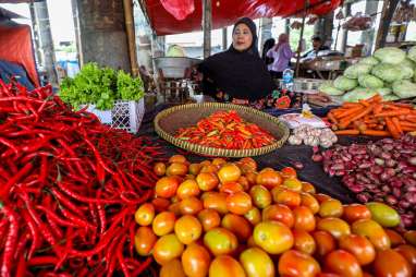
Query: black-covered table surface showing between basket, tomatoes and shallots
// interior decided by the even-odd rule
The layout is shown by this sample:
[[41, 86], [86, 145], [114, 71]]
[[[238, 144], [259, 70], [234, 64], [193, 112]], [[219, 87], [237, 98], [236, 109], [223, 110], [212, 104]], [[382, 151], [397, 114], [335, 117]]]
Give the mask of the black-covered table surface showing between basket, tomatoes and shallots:
[[[186, 153], [170, 143], [158, 137], [154, 129], [154, 118], [156, 115], [168, 108], [167, 105], [159, 105], [155, 109], [146, 112], [143, 120], [142, 127], [139, 129], [138, 135], [146, 135], [150, 137], [156, 143], [162, 145], [163, 152], [167, 157], [174, 154], [186, 154], [186, 158], [192, 161], [201, 161], [206, 157], [198, 156], [192, 153]], [[350, 145], [352, 143], [366, 142], [368, 138], [356, 137], [356, 136], [342, 136], [340, 137], [340, 144]], [[292, 166], [295, 161], [301, 161], [304, 166], [302, 170], [297, 170], [299, 179], [313, 183], [319, 192], [326, 193], [335, 197], [343, 203], [351, 203], [354, 201], [354, 195], [344, 188], [338, 178], [330, 178], [323, 172], [322, 167], [318, 162], [314, 162], [310, 157], [313, 155], [313, 149], [310, 146], [306, 145], [287, 145], [285, 144], [282, 148], [279, 148], [270, 154], [254, 157], [258, 162], [259, 168], [272, 167], [281, 169], [283, 167]]]

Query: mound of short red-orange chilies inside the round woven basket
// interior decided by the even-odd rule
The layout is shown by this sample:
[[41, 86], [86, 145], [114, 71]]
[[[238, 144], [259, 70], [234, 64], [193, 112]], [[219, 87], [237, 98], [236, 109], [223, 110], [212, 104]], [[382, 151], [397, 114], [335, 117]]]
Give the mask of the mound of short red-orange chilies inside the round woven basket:
[[257, 124], [245, 122], [235, 110], [217, 111], [199, 120], [196, 127], [181, 128], [176, 137], [216, 148], [249, 149], [276, 142]]

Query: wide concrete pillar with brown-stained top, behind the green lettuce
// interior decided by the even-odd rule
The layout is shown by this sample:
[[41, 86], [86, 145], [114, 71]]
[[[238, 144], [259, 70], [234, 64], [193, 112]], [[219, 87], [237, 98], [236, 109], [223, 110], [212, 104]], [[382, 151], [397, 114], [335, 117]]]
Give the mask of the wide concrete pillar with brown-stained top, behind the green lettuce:
[[77, 0], [81, 63], [97, 62], [130, 72], [123, 1]]

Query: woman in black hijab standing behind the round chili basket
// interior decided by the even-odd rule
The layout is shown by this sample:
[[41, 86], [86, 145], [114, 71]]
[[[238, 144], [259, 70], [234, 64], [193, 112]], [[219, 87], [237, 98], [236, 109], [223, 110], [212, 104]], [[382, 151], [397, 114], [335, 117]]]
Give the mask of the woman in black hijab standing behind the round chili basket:
[[238, 20], [232, 38], [227, 51], [207, 58], [199, 65], [204, 74], [203, 91], [219, 101], [261, 108], [276, 85], [258, 53], [255, 23], [248, 17]]

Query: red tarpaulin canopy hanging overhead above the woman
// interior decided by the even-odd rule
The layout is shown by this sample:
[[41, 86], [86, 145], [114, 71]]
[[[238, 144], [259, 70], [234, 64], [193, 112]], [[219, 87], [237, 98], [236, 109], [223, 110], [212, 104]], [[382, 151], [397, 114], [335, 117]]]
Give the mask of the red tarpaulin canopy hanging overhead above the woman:
[[[309, 14], [333, 11], [342, 0], [310, 0]], [[237, 19], [290, 16], [302, 13], [304, 0], [212, 0], [213, 28], [232, 25]], [[201, 0], [145, 0], [150, 24], [158, 35], [201, 29]], [[182, 20], [183, 19], [183, 20]]]

